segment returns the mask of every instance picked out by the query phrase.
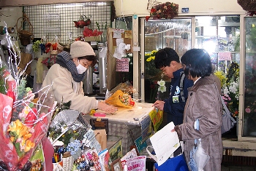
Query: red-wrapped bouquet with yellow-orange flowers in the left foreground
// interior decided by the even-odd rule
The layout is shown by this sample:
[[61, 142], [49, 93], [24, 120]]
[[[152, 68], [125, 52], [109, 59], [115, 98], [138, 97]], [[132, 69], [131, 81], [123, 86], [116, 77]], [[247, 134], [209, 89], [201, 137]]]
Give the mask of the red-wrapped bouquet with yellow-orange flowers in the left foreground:
[[[4, 170], [25, 171], [31, 167], [29, 159], [46, 138], [53, 111], [50, 107], [43, 111], [45, 106], [34, 100], [29, 88], [22, 86], [17, 84], [15, 92], [0, 94], [0, 168]], [[24, 97], [20, 99], [18, 93], [24, 93]]]

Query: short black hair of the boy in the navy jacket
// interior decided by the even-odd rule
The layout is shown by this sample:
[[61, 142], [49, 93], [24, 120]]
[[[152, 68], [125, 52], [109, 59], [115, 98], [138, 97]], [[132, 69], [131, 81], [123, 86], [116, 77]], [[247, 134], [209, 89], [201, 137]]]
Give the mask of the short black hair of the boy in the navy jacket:
[[170, 66], [170, 62], [173, 60], [180, 63], [177, 52], [170, 47], [165, 47], [164, 49], [159, 49], [159, 51], [156, 52], [154, 65], [156, 68]]

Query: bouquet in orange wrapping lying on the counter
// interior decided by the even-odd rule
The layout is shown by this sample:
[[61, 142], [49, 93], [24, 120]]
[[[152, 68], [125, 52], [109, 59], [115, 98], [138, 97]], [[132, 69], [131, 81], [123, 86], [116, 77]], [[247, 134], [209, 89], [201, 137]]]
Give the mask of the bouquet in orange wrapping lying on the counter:
[[135, 101], [131, 96], [133, 91], [129, 82], [121, 83], [108, 93], [109, 98], [105, 100], [105, 103], [122, 108], [132, 108], [135, 106]]

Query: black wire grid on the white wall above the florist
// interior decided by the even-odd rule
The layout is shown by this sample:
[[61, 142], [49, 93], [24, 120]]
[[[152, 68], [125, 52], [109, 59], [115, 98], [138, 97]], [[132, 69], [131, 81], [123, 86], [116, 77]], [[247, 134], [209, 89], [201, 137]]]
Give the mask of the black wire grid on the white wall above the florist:
[[[63, 44], [69, 39], [83, 36], [83, 28], [76, 28], [73, 22], [78, 21], [80, 15], [91, 20], [88, 27], [93, 30], [98, 29], [96, 22], [99, 23], [100, 31], [102, 25], [105, 27], [105, 22], [107, 28], [111, 27], [111, 1], [26, 6], [23, 12], [33, 25], [34, 38], [45, 37], [47, 41], [54, 41], [57, 36]], [[26, 25], [24, 29], [28, 29]]]

